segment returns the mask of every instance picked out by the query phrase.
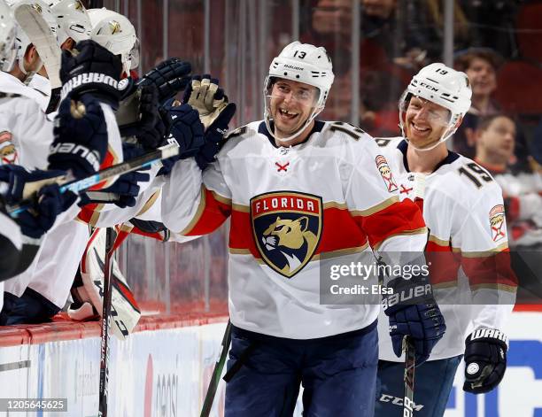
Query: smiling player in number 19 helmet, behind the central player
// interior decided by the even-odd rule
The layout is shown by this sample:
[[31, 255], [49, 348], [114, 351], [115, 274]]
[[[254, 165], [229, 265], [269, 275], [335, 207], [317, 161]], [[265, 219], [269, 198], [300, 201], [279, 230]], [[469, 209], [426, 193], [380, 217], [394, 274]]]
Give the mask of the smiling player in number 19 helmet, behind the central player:
[[[514, 305], [516, 283], [501, 189], [482, 166], [445, 146], [470, 97], [465, 73], [426, 66], [399, 101], [403, 137], [377, 139], [398, 176], [400, 198], [422, 207], [430, 228], [430, 277], [445, 316], [442, 342], [415, 370], [414, 414], [420, 417], [445, 413], [462, 356], [468, 392], [495, 388], [507, 365], [507, 336], [500, 329]], [[404, 361], [391, 351], [384, 323], [379, 336], [376, 416], [402, 416]]]

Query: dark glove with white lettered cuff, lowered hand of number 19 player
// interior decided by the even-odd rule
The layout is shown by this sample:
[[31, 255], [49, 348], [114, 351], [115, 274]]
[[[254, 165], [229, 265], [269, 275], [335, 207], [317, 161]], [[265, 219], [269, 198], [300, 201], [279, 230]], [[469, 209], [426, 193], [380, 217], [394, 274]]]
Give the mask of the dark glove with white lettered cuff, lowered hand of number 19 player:
[[463, 390], [483, 394], [494, 389], [507, 370], [507, 336], [494, 328], [479, 328], [465, 340]]

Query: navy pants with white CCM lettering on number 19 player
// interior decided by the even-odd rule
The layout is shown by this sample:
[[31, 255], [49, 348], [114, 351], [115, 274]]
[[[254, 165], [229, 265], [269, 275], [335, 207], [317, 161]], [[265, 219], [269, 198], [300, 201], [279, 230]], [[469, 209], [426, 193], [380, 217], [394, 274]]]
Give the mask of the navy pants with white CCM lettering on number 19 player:
[[[428, 360], [414, 371], [414, 415], [442, 417], [462, 355]], [[378, 361], [375, 417], [402, 417], [404, 362]]]

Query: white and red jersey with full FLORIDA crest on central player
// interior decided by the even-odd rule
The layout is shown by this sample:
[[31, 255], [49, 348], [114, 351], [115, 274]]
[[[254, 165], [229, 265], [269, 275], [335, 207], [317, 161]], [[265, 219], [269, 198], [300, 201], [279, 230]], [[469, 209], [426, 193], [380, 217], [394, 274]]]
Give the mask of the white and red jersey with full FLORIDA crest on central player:
[[[373, 304], [321, 304], [321, 264], [350, 265], [381, 251], [422, 251], [427, 229], [399, 203], [373, 138], [342, 122], [317, 121], [305, 143], [276, 147], [256, 121], [228, 137], [203, 174], [175, 164], [162, 188], [162, 219], [185, 236], [231, 217], [229, 315], [239, 327], [310, 339], [365, 328]], [[372, 257], [372, 254], [369, 255]]]

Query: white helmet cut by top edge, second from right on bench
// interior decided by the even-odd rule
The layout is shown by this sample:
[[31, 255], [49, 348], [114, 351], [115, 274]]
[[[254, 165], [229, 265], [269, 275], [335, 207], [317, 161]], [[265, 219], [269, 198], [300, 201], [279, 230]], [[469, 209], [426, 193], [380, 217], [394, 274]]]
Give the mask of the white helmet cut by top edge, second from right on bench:
[[59, 26], [59, 44], [66, 42], [68, 38], [72, 38], [75, 42], [90, 38], [92, 26], [89, 13], [81, 0], [53, 0], [49, 5]]

